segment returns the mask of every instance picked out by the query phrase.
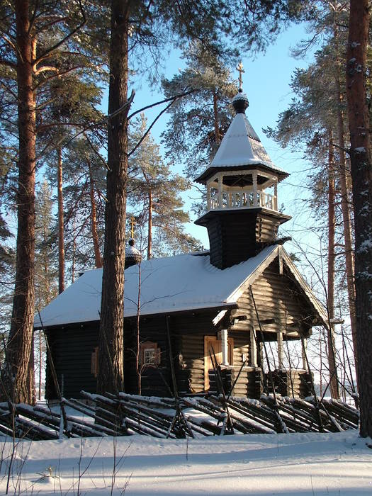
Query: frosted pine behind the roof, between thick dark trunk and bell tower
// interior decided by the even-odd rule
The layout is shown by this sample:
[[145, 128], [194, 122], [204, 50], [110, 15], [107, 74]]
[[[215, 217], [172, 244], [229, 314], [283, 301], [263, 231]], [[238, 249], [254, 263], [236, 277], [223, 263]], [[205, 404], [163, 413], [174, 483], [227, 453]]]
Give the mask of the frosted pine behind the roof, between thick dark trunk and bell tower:
[[[130, 133], [130, 142], [137, 143], [146, 128], [147, 120], [141, 114]], [[171, 173], [150, 134], [130, 156], [129, 167], [128, 208], [135, 217], [137, 232], [142, 233], [147, 259], [198, 249], [198, 241], [184, 232], [184, 224], [190, 218], [183, 210], [180, 193], [187, 191], [190, 184]]]

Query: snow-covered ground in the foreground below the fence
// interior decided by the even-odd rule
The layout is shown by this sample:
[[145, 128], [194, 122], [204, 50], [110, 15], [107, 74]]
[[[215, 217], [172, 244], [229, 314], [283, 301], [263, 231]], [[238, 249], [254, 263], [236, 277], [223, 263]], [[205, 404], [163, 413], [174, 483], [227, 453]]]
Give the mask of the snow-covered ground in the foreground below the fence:
[[[0, 444], [1, 494], [11, 448]], [[17, 495], [372, 495], [372, 449], [356, 431], [24, 441], [12, 473]]]

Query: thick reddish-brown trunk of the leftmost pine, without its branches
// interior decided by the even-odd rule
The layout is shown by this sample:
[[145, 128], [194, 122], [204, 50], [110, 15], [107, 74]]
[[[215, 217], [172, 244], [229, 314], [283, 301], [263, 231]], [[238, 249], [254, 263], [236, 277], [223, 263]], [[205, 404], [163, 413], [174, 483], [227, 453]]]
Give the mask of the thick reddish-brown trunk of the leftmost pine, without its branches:
[[9, 393], [15, 402], [35, 401], [33, 313], [35, 306], [35, 94], [29, 2], [15, 0], [18, 80], [18, 231], [16, 284], [7, 345]]

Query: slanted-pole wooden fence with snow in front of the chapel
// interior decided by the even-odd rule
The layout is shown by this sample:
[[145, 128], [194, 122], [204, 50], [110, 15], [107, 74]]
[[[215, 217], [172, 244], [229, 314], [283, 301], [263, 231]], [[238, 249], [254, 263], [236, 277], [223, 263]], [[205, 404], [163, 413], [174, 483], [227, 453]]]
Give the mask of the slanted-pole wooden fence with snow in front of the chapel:
[[69, 437], [159, 438], [276, 432], [341, 432], [357, 429], [359, 411], [337, 400], [282, 398], [145, 397], [81, 392], [81, 400], [62, 398], [60, 412], [37, 405], [0, 403], [0, 436], [45, 440]]

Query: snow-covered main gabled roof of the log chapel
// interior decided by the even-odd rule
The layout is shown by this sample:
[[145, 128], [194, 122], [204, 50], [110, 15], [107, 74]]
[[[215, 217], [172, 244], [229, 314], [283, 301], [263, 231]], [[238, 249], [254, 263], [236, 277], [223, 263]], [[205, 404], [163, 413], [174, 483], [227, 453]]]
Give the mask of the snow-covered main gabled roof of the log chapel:
[[[278, 257], [280, 249], [278, 245], [266, 247], [256, 257], [224, 270], [211, 265], [208, 254], [142, 261], [140, 268], [135, 265], [125, 269], [124, 315], [137, 315], [139, 270], [142, 281], [140, 315], [203, 308], [222, 310], [237, 303], [247, 284], [253, 283]], [[298, 282], [305, 288], [313, 308], [322, 311], [305, 281], [301, 278]], [[40, 312], [43, 326], [99, 320], [101, 284], [102, 269], [87, 271]], [[320, 316], [323, 318], [322, 314]], [[35, 316], [35, 327], [41, 327], [38, 315]]]

